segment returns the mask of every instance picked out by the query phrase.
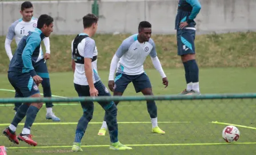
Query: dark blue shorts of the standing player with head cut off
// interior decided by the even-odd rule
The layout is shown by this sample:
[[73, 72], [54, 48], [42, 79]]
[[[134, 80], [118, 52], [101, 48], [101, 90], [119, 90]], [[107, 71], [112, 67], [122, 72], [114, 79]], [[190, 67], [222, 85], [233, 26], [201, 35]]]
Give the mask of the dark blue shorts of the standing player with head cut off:
[[178, 55], [195, 54], [195, 30], [177, 30]]

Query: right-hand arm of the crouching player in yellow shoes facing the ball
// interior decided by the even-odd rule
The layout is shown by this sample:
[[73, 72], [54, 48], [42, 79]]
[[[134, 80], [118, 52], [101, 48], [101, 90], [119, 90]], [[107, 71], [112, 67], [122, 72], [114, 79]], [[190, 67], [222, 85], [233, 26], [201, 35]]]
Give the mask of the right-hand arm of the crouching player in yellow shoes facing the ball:
[[155, 50], [155, 43], [153, 42], [153, 40], [152, 40], [151, 44], [152, 44], [153, 48], [152, 48], [149, 55], [151, 57], [151, 60], [152, 60], [152, 63], [154, 65], [155, 69], [162, 76], [163, 84], [166, 85], [166, 87], [167, 87], [168, 86], [168, 80], [167, 80], [167, 77], [165, 75], [165, 72], [163, 71], [160, 60], [158, 59], [157, 51]]

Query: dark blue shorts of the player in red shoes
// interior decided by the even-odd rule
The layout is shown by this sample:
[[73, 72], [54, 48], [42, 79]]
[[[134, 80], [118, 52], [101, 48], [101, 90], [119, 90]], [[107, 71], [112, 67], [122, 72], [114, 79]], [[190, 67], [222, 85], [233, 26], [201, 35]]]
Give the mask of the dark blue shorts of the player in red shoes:
[[40, 93], [37, 84], [29, 73], [8, 72], [8, 79], [19, 97], [29, 97], [35, 93]]

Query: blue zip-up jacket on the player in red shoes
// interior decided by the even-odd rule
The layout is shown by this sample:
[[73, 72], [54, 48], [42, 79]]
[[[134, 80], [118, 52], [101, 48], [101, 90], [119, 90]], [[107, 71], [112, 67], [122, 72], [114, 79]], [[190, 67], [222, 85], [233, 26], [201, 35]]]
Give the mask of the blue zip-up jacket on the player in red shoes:
[[39, 28], [29, 31], [18, 44], [13, 59], [9, 64], [8, 72], [29, 73], [32, 77], [37, 75], [33, 64], [37, 61], [40, 54], [40, 46], [45, 38]]

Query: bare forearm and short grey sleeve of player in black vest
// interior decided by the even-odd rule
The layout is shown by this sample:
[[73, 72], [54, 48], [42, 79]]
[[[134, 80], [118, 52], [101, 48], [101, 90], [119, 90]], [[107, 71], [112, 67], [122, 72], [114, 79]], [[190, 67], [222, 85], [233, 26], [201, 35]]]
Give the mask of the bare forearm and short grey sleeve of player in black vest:
[[98, 96], [98, 91], [93, 83], [93, 68], [91, 67], [91, 60], [93, 60], [93, 52], [95, 49], [95, 41], [90, 39], [85, 43], [84, 59], [85, 59], [85, 76], [90, 87], [90, 95]]

